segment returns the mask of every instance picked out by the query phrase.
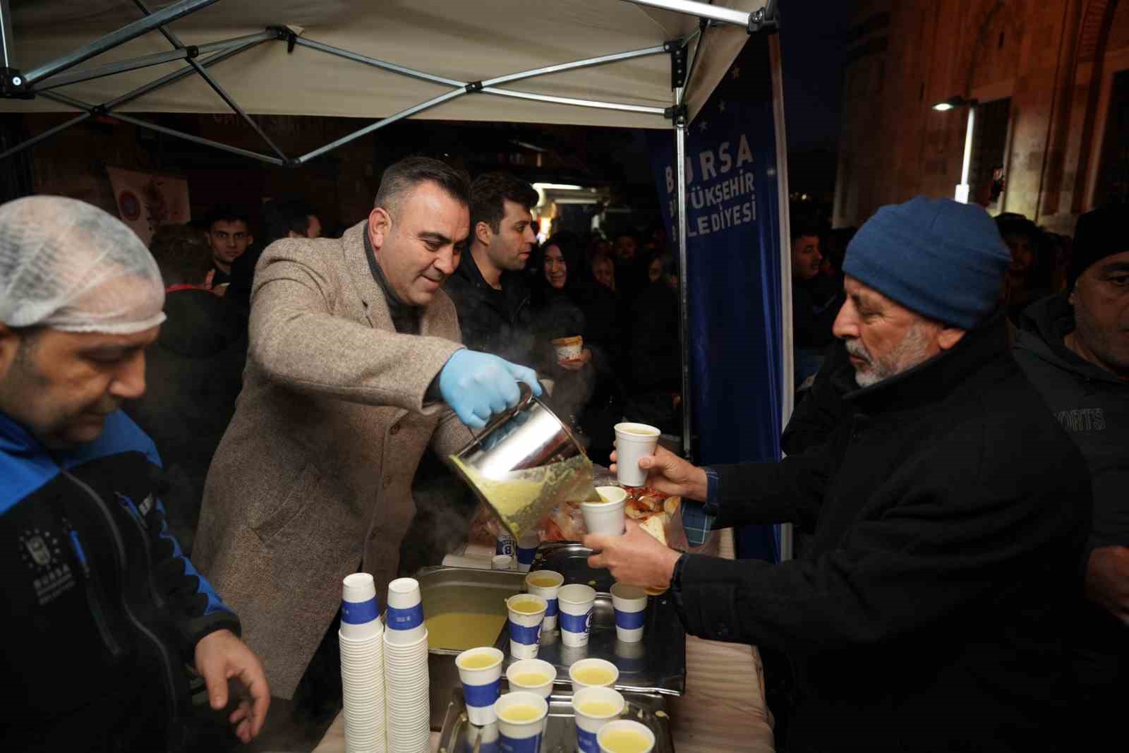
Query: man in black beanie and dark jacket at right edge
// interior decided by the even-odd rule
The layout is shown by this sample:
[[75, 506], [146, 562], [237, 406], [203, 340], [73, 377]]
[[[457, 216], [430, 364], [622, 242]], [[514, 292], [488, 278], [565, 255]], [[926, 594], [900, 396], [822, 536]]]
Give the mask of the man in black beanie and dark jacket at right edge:
[[1129, 242], [1124, 212], [1078, 220], [1067, 292], [1019, 318], [1015, 358], [1082, 449], [1094, 487], [1086, 596], [1071, 624], [1082, 739], [1119, 735], [1129, 698]]

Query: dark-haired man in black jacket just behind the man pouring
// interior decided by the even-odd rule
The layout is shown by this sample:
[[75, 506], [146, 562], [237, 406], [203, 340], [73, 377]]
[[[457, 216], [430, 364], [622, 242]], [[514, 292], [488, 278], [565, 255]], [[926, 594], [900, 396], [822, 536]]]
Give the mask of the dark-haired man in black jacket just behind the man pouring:
[[455, 301], [463, 342], [508, 361], [534, 365], [530, 286], [524, 272], [536, 231], [533, 186], [507, 173], [471, 184], [471, 253], [444, 290]]

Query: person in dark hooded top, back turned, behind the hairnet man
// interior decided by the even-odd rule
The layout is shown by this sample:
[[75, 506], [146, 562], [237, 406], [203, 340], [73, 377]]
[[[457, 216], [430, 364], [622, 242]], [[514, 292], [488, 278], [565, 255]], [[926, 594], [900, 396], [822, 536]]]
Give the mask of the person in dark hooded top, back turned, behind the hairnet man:
[[125, 412], [160, 450], [168, 525], [191, 553], [208, 466], [243, 387], [246, 321], [205, 286], [211, 264], [198, 230], [163, 226], [149, 251], [165, 280], [167, 318], [148, 351], [149, 387]]

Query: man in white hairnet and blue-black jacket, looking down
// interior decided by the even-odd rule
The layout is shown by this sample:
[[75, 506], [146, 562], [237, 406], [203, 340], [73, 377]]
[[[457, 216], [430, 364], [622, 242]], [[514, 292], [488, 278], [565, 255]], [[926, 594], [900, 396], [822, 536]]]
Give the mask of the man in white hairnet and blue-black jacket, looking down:
[[183, 743], [185, 660], [213, 709], [259, 734], [270, 692], [239, 620], [168, 533], [157, 448], [122, 403], [145, 392], [164, 305], [119, 220], [71, 199], [0, 207], [0, 593], [6, 750]]

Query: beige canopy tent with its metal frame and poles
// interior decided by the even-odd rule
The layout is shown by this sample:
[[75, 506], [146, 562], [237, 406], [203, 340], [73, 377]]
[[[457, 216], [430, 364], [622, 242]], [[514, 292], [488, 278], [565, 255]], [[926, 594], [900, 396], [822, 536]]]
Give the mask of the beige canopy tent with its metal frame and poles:
[[[149, 0], [152, 1], [152, 0]], [[75, 112], [0, 159], [95, 115], [278, 166], [404, 117], [669, 128], [683, 178], [685, 125], [747, 34], [776, 24], [769, 0], [0, 0], [0, 108]], [[779, 84], [779, 82], [778, 82]], [[778, 93], [778, 131], [782, 113]], [[234, 110], [262, 151], [130, 113]], [[253, 114], [376, 119], [285, 155]], [[781, 163], [782, 164], [782, 163]], [[787, 196], [780, 170], [781, 196]], [[787, 202], [781, 201], [787, 237]], [[684, 217], [685, 181], [677, 181]], [[679, 222], [681, 269], [685, 226]], [[787, 247], [782, 249], [787, 253]], [[790, 330], [789, 264], [785, 279]], [[681, 290], [683, 448], [690, 448], [688, 284]], [[785, 338], [790, 344], [790, 336]], [[787, 348], [788, 345], [786, 345]], [[790, 395], [786, 353], [786, 394]], [[786, 400], [790, 412], [790, 397]]]

